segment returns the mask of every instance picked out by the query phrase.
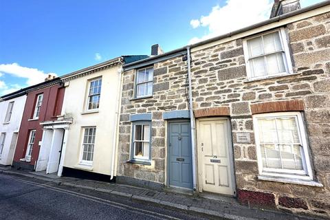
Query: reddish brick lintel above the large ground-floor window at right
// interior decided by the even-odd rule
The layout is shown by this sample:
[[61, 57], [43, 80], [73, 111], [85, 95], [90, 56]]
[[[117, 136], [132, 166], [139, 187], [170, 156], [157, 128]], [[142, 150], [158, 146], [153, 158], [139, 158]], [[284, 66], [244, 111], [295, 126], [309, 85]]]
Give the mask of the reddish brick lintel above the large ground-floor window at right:
[[251, 104], [252, 114], [278, 111], [304, 111], [303, 100], [283, 100]]

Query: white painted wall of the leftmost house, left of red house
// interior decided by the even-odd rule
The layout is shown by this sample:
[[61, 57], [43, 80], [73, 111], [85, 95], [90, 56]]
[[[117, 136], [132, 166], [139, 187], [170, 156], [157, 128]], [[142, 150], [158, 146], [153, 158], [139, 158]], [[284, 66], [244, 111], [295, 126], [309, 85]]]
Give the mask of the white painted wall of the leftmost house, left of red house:
[[[7, 113], [8, 103], [14, 101], [14, 107], [12, 109], [12, 117], [9, 123], [3, 123], [5, 120], [5, 114]], [[14, 151], [16, 147], [17, 135], [13, 136], [13, 133], [19, 132], [19, 127], [21, 126], [21, 121], [23, 117], [23, 111], [25, 107], [26, 96], [19, 96], [17, 98], [12, 98], [10, 100], [5, 100], [0, 102], [0, 133], [6, 133], [5, 135], [5, 145], [3, 146], [2, 155], [0, 158], [0, 164], [11, 165], [12, 158], [14, 157]], [[12, 145], [12, 147], [10, 147]]]

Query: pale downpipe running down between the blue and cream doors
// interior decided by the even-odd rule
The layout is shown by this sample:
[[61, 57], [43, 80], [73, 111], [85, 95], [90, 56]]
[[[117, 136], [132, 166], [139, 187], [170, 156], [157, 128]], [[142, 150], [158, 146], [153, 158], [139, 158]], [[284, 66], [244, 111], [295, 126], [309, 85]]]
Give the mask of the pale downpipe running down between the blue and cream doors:
[[187, 47], [187, 63], [188, 63], [188, 82], [189, 82], [189, 112], [190, 112], [190, 129], [191, 129], [191, 153], [192, 153], [192, 188], [196, 190], [196, 161], [195, 161], [195, 116], [192, 111], [192, 87], [190, 72], [190, 47]]

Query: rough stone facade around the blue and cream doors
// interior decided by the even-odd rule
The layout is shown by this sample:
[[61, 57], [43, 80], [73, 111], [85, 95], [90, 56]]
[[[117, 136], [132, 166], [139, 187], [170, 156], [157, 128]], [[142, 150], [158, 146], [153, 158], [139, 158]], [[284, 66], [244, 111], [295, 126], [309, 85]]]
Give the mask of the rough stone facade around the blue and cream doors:
[[[294, 69], [288, 76], [249, 81], [243, 39], [192, 52], [193, 107], [195, 115], [201, 117], [208, 113], [230, 117], [236, 190], [241, 203], [329, 217], [330, 12], [283, 28]], [[118, 176], [166, 184], [166, 121], [162, 113], [188, 109], [187, 63], [182, 56], [155, 63], [151, 98], [133, 100], [134, 75], [135, 70], [124, 72]], [[311, 164], [322, 187], [258, 179], [252, 113], [272, 108], [303, 111]], [[129, 115], [135, 113], [152, 113], [151, 166], [126, 163], [131, 140]], [[238, 132], [250, 133], [251, 143], [238, 143]]]

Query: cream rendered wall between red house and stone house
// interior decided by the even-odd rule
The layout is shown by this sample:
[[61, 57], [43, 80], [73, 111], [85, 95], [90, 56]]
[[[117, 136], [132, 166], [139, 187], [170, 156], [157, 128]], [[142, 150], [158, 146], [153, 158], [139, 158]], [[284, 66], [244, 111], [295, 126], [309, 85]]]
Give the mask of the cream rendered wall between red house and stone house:
[[[88, 170], [90, 172], [111, 174], [113, 138], [116, 120], [116, 97], [120, 89], [118, 69], [110, 67], [88, 76], [75, 78], [65, 87], [62, 114], [65, 118], [73, 118], [67, 130], [67, 145], [65, 149], [64, 166]], [[100, 107], [98, 112], [86, 112], [87, 89], [89, 80], [102, 76]], [[82, 150], [83, 127], [96, 126], [96, 140], [92, 167], [80, 166], [80, 151]]]

